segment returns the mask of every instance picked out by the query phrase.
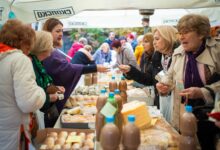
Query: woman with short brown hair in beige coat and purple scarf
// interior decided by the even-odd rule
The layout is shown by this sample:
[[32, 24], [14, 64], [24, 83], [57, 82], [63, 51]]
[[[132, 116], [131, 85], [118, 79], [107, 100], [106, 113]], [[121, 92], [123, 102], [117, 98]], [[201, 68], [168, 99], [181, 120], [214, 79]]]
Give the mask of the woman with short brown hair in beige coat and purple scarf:
[[[220, 90], [220, 43], [209, 38], [210, 23], [205, 16], [189, 14], [177, 25], [181, 46], [174, 51], [167, 74], [157, 84], [160, 93], [172, 91], [172, 125], [179, 129], [183, 104], [204, 106], [213, 103], [214, 93]], [[214, 149], [214, 135], [218, 132], [214, 123], [198, 119], [198, 138], [202, 149]]]

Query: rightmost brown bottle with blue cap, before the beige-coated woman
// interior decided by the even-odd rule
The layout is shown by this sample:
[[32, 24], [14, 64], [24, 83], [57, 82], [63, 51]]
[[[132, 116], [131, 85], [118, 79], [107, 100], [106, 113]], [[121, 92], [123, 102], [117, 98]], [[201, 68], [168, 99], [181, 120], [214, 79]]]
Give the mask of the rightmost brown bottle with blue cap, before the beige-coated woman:
[[180, 150], [195, 150], [197, 146], [196, 132], [197, 120], [192, 113], [192, 106], [185, 106], [186, 112], [183, 113], [180, 120]]

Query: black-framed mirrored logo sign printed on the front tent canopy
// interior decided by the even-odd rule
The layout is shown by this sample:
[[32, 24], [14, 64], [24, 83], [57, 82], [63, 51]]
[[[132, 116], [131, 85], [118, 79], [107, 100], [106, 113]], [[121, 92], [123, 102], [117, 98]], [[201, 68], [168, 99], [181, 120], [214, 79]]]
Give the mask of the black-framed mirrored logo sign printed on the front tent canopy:
[[37, 21], [48, 19], [51, 17], [72, 16], [74, 14], [75, 12], [73, 10], [73, 7], [47, 9], [47, 10], [34, 10], [34, 15]]

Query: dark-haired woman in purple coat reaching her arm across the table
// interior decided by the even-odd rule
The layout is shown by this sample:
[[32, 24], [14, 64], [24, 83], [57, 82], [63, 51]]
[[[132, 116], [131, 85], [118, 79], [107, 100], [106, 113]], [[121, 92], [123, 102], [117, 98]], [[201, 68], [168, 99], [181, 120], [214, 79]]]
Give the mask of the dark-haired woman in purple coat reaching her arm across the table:
[[43, 61], [43, 65], [47, 73], [53, 78], [54, 84], [64, 86], [65, 88], [64, 100], [56, 102], [57, 109], [60, 113], [82, 74], [107, 72], [108, 68], [102, 65], [87, 66], [69, 63], [62, 54], [63, 52], [59, 50], [62, 46], [63, 24], [58, 19], [48, 19], [43, 26], [43, 30], [51, 32], [54, 47], [51, 56]]

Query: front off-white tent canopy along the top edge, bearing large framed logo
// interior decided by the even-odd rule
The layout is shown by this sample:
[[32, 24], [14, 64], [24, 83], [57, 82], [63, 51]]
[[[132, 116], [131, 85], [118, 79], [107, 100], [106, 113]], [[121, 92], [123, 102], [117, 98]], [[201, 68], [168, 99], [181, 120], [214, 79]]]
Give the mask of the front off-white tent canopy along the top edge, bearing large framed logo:
[[85, 10], [201, 8], [220, 6], [218, 0], [0, 0], [0, 21], [11, 10], [26, 23], [49, 17], [67, 18]]

